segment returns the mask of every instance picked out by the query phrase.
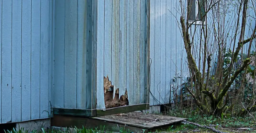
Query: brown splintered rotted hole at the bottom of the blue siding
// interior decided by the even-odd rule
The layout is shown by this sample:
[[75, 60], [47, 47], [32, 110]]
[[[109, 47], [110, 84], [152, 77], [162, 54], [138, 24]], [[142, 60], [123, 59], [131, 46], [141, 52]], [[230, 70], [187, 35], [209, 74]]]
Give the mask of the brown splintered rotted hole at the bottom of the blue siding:
[[114, 95], [114, 86], [111, 84], [111, 81], [104, 76], [104, 100], [105, 100], [105, 107], [106, 108], [114, 108], [119, 106], [126, 106], [129, 105], [128, 101], [128, 94], [127, 89], [125, 89], [124, 95], [121, 95], [119, 98], [119, 88], [115, 91], [115, 97], [113, 99]]

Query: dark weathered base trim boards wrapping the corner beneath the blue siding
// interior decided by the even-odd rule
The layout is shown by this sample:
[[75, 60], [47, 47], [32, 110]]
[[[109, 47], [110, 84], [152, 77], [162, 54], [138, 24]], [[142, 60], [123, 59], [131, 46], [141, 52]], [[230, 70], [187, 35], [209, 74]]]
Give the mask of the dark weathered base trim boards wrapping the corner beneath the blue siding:
[[119, 113], [127, 113], [139, 110], [149, 109], [149, 104], [137, 104], [137, 105], [128, 105], [121, 106], [116, 108], [108, 108], [106, 110], [94, 109], [94, 110], [85, 110], [85, 109], [76, 109], [76, 108], [52, 108], [53, 115], [72, 115], [72, 116], [103, 116], [103, 115], [113, 115]]

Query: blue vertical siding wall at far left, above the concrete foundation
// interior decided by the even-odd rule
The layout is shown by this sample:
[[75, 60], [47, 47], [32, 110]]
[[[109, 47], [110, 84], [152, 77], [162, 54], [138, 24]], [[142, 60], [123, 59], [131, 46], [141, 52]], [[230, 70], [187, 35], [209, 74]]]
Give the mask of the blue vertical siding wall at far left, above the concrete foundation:
[[47, 118], [52, 0], [1, 3], [0, 123]]

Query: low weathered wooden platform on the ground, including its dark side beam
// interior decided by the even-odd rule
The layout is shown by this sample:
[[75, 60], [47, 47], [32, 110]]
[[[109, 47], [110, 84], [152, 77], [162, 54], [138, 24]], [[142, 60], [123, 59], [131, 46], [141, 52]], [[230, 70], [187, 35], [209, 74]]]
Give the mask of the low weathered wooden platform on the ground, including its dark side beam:
[[126, 130], [127, 132], [150, 132], [169, 128], [171, 125], [187, 120], [185, 118], [166, 115], [153, 115], [140, 112], [130, 112], [99, 117], [78, 117], [54, 115], [51, 126], [96, 128], [108, 131]]

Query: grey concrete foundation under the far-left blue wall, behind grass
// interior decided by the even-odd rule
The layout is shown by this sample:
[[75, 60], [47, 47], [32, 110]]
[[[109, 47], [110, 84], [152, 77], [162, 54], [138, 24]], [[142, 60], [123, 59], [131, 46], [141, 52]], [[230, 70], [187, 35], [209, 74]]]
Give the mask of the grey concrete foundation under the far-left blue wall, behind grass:
[[48, 130], [51, 128], [51, 120], [50, 118], [47, 119], [37, 119], [37, 120], [30, 120], [25, 122], [17, 122], [16, 128], [24, 128], [24, 130], [28, 130], [28, 132], [32, 132], [32, 130], [40, 131], [42, 128], [44, 130]]

